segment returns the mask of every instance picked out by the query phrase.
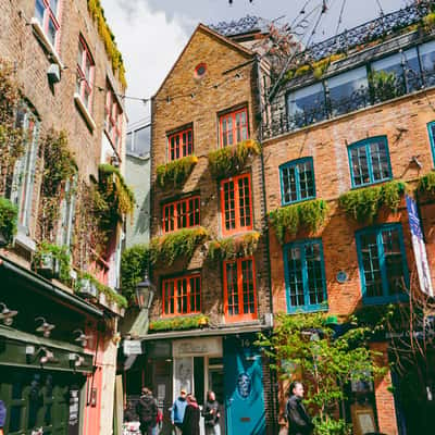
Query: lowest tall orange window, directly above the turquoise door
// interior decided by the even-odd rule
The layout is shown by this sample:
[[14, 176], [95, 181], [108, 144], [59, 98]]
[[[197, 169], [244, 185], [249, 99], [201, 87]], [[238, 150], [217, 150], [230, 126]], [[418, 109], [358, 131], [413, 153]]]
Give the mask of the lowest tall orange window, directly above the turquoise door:
[[[233, 269], [232, 276], [228, 276], [228, 266]], [[224, 261], [223, 269], [225, 320], [227, 322], [256, 320], [258, 311], [253, 257]], [[232, 288], [228, 288], [228, 278], [232, 281]]]

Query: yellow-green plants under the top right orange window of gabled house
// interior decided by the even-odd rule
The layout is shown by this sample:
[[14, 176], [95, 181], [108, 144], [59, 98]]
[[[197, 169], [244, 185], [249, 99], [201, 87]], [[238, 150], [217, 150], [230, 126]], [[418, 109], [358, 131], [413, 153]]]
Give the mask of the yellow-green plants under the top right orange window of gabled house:
[[252, 139], [209, 153], [209, 167], [215, 178], [224, 178], [243, 170], [250, 156], [261, 153], [260, 144]]

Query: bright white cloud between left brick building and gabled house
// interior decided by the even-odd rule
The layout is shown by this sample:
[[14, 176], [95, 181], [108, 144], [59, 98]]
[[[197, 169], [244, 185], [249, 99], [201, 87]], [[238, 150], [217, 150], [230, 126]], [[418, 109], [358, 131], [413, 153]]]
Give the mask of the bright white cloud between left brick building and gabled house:
[[[146, 1], [102, 0], [126, 67], [127, 95], [151, 97], [187, 42], [183, 24], [169, 21], [162, 11], [151, 11]], [[129, 122], [149, 115], [149, 104], [127, 100]]]

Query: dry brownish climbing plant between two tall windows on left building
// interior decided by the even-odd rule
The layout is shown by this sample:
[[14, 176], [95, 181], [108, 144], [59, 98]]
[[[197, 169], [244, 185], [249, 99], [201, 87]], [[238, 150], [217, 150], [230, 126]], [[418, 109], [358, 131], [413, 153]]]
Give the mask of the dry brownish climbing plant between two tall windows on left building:
[[41, 140], [44, 171], [40, 188], [39, 226], [42, 239], [52, 240], [59, 222], [65, 182], [77, 171], [67, 146], [66, 132], [50, 129]]

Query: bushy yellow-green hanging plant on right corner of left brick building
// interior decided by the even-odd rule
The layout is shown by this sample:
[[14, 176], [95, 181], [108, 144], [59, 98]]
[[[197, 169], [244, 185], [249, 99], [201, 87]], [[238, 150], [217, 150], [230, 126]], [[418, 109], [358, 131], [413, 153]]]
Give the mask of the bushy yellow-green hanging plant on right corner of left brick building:
[[[116, 167], [104, 163], [98, 166], [98, 172], [99, 191], [109, 211], [104, 216], [105, 226], [112, 228], [123, 221], [124, 214], [134, 212], [135, 196]], [[104, 222], [102, 224], [104, 225]]]

